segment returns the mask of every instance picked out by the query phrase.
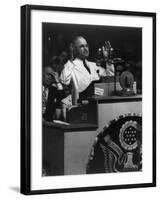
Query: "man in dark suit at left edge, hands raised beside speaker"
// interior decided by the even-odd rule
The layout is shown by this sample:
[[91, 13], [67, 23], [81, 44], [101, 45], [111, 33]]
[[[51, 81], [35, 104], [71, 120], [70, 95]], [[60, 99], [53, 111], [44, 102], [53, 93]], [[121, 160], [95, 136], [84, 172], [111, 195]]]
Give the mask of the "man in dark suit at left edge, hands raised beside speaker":
[[60, 108], [61, 100], [65, 97], [62, 84], [54, 65], [43, 69], [42, 113], [43, 119], [52, 121], [57, 119], [56, 109]]

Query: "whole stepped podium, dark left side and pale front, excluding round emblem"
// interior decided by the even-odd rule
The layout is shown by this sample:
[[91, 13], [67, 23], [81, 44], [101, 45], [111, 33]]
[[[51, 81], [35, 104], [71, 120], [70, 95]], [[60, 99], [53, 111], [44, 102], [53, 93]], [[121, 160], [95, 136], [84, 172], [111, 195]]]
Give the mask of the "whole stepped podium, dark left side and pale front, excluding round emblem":
[[[96, 124], [43, 124], [43, 175], [85, 174], [96, 135], [116, 116], [142, 113], [142, 97], [95, 98]], [[94, 113], [93, 113], [94, 114]]]

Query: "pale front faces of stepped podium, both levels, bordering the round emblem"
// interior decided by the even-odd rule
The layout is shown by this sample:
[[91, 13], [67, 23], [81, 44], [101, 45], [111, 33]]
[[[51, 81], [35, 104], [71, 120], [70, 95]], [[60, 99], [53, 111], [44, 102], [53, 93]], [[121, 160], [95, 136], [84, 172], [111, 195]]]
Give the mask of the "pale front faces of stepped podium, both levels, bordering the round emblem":
[[66, 132], [64, 136], [64, 174], [85, 174], [86, 164], [96, 135], [116, 116], [141, 113], [142, 102], [119, 102], [98, 105], [99, 128], [96, 131]]

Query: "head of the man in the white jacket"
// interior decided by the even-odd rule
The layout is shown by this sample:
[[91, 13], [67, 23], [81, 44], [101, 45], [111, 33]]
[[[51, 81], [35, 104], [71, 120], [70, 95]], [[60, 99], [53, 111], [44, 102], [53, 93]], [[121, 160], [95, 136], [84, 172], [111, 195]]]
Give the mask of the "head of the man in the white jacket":
[[89, 47], [87, 41], [82, 36], [77, 36], [73, 40], [74, 54], [77, 58], [84, 60], [89, 56]]

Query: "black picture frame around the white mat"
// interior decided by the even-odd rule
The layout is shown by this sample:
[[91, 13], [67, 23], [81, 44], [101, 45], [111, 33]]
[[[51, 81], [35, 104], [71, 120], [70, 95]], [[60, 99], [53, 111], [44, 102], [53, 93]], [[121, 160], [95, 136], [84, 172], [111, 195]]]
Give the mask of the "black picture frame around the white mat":
[[[153, 20], [153, 162], [152, 162], [152, 183], [126, 184], [113, 186], [95, 186], [78, 188], [61, 188], [49, 190], [31, 190], [31, 11], [63, 11], [83, 12], [95, 14], [112, 14], [123, 16], [151, 17]], [[54, 7], [42, 5], [24, 5], [21, 7], [21, 193], [23, 194], [44, 194], [64, 193], [95, 190], [127, 189], [156, 186], [156, 13], [115, 11], [89, 8]]]

